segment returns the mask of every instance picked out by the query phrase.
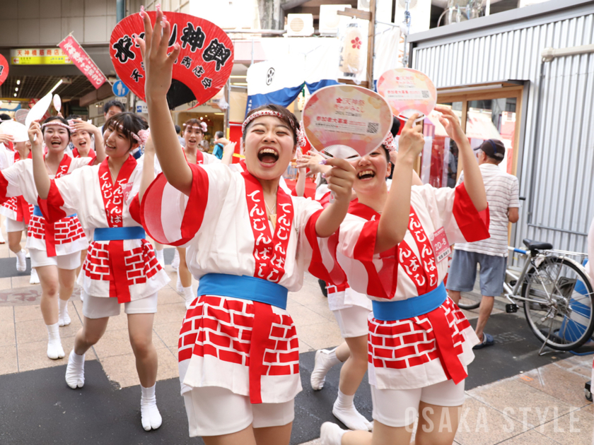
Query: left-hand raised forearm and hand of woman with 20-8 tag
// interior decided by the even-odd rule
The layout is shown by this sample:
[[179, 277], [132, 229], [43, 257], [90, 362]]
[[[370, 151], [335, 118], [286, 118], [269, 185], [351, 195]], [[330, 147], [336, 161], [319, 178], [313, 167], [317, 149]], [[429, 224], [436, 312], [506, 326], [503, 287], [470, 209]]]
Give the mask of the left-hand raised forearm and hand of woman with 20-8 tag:
[[425, 145], [421, 123], [414, 125], [414, 114], [404, 126], [398, 140], [398, 154], [392, 174], [392, 186], [388, 193], [375, 239], [375, 253], [391, 249], [402, 242], [407, 234], [410, 215], [410, 188], [413, 182], [414, 161]]

